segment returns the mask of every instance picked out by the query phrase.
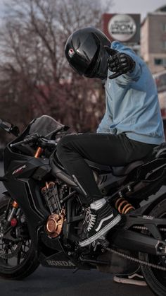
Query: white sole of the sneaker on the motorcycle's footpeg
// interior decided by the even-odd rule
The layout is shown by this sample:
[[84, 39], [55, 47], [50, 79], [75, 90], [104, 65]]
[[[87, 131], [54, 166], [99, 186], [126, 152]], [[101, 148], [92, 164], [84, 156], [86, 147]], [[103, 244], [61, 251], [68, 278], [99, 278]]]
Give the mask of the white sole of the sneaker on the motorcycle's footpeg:
[[106, 232], [108, 232], [108, 230], [110, 230], [117, 223], [119, 223], [120, 220], [121, 220], [121, 216], [117, 215], [114, 220], [112, 220], [108, 225], [106, 225], [106, 227], [103, 227], [103, 229], [98, 231], [95, 235], [93, 235], [92, 237], [89, 237], [88, 239], [85, 239], [83, 242], [79, 242], [79, 246], [80, 247], [88, 246], [88, 244], [91, 244], [92, 242], [94, 242], [94, 240], [98, 239], [98, 237], [101, 237], [101, 235], [106, 234]]

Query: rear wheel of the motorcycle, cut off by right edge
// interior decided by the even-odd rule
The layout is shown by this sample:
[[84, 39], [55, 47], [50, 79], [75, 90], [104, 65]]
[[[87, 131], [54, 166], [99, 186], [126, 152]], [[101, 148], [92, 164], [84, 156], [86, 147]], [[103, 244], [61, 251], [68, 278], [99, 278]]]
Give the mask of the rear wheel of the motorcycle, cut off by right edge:
[[[155, 218], [165, 218], [166, 219], [166, 200], [162, 201], [155, 206], [153, 211], [149, 215], [155, 216]], [[162, 229], [160, 232], [162, 239], [166, 242], [166, 230]], [[166, 268], [166, 254], [165, 256], [155, 256], [150, 254], [139, 254], [139, 259], [146, 261], [151, 264], [155, 264]], [[153, 290], [155, 295], [165, 296], [166, 295], [166, 271], [160, 269], [152, 268], [151, 266], [141, 265], [141, 271], [143, 273], [148, 286]]]

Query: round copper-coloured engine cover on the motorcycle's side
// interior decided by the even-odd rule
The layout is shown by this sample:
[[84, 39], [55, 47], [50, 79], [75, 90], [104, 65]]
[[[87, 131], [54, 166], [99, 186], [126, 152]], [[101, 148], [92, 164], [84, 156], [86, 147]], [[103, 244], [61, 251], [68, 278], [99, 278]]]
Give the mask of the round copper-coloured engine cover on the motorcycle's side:
[[46, 223], [46, 232], [49, 237], [58, 237], [58, 235], [60, 235], [60, 232], [62, 231], [63, 223], [63, 213], [50, 215]]

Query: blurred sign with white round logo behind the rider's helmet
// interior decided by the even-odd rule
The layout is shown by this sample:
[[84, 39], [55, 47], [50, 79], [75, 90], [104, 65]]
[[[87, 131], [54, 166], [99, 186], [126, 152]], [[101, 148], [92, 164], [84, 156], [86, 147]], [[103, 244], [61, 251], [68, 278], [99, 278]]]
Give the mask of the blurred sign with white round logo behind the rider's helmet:
[[140, 42], [140, 14], [103, 14], [103, 32], [110, 41]]

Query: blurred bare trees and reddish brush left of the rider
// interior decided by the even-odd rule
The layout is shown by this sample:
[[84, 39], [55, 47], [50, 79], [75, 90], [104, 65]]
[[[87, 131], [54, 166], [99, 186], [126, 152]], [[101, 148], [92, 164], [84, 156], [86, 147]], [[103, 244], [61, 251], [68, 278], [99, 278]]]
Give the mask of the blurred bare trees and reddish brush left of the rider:
[[78, 28], [100, 28], [103, 9], [99, 0], [9, 1], [0, 37], [0, 100], [7, 118], [25, 126], [50, 114], [79, 131], [96, 129], [104, 108], [101, 84], [73, 73], [64, 45]]

